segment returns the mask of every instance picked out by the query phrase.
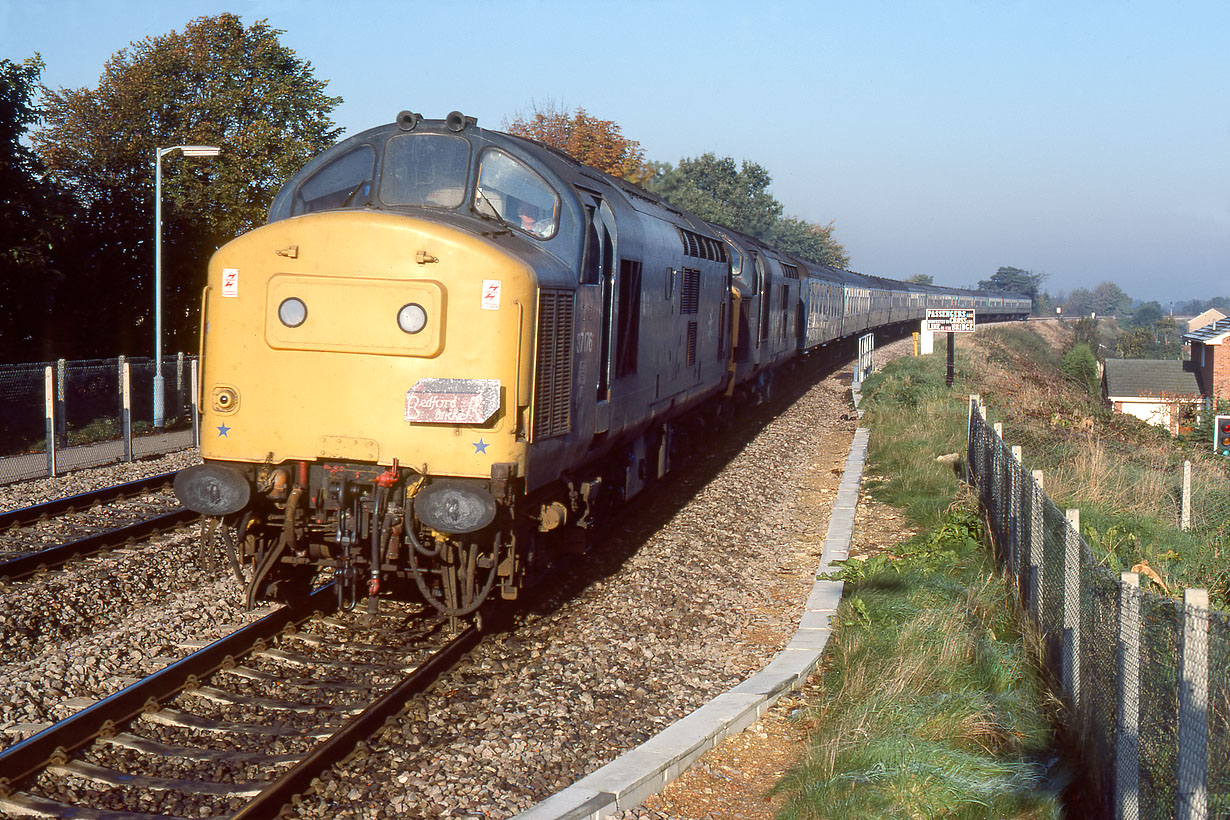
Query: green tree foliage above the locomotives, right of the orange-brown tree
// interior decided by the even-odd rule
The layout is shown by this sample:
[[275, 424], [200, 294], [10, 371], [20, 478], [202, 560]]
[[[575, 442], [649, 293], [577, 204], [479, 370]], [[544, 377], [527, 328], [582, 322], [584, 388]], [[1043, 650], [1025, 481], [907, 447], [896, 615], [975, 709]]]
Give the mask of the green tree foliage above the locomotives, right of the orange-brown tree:
[[744, 160], [737, 165], [728, 156], [705, 154], [683, 159], [678, 166], [656, 166], [646, 181], [653, 193], [690, 210], [704, 220], [726, 225], [806, 259], [831, 267], [846, 267], [850, 256], [833, 239], [833, 223], [817, 225], [782, 215], [782, 205], [769, 186], [769, 172]]

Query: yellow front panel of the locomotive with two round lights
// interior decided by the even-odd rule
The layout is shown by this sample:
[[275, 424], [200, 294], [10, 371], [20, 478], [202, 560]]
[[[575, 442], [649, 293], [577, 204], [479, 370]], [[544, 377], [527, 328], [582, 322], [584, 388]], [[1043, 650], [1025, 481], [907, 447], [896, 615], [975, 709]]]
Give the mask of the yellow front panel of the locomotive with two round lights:
[[205, 291], [202, 456], [524, 472], [533, 288], [523, 262], [403, 215], [309, 214], [231, 242]]

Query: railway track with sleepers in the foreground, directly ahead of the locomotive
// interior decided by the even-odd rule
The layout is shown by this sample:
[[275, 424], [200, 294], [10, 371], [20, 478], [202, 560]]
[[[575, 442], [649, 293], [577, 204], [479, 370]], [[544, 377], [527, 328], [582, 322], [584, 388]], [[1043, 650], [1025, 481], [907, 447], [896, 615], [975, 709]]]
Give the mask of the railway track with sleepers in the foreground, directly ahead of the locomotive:
[[277, 816], [478, 642], [405, 613], [328, 617], [335, 602], [325, 586], [4, 750], [0, 811]]

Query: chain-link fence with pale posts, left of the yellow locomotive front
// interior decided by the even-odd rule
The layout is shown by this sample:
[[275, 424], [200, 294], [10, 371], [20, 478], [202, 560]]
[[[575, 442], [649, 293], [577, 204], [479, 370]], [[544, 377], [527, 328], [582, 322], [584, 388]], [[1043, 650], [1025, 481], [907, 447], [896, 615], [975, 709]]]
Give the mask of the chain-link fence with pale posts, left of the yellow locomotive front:
[[0, 484], [170, 452], [199, 441], [197, 357], [0, 365]]

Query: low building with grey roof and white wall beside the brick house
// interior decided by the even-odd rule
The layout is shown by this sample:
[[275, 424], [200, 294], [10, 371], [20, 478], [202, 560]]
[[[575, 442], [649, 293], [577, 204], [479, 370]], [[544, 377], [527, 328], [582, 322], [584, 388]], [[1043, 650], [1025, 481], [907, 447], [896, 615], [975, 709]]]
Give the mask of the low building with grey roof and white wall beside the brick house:
[[1196, 370], [1177, 359], [1107, 359], [1102, 397], [1117, 413], [1166, 428], [1171, 435], [1192, 427], [1203, 404]]

